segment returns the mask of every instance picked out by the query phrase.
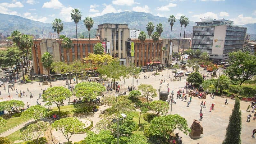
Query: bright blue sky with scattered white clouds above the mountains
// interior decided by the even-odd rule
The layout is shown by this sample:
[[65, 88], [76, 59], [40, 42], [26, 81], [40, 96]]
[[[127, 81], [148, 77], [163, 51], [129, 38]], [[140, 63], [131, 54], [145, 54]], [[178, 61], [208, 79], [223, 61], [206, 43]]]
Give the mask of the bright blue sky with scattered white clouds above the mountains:
[[82, 19], [136, 11], [161, 17], [185, 15], [192, 21], [224, 18], [242, 25], [256, 23], [255, 5], [256, 0], [0, 0], [0, 13], [51, 23], [54, 18], [71, 21], [71, 10], [78, 8]]

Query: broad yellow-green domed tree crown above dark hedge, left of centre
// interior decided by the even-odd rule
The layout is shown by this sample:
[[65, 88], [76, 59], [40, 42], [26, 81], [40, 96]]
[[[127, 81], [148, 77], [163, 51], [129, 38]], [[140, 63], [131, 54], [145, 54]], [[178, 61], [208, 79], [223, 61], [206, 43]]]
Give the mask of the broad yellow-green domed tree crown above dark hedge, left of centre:
[[74, 92], [76, 93], [76, 97], [83, 97], [83, 100], [93, 100], [96, 99], [102, 92], [105, 92], [106, 88], [100, 84], [95, 82], [82, 82], [76, 84]]

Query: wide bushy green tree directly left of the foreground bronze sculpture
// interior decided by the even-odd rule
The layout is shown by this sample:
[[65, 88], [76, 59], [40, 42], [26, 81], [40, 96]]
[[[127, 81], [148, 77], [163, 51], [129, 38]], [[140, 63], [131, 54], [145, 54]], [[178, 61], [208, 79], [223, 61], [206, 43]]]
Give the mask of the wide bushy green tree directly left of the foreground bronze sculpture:
[[152, 136], [162, 137], [166, 142], [170, 141], [170, 134], [179, 129], [184, 134], [188, 134], [187, 120], [180, 115], [156, 116], [148, 127], [148, 131]]

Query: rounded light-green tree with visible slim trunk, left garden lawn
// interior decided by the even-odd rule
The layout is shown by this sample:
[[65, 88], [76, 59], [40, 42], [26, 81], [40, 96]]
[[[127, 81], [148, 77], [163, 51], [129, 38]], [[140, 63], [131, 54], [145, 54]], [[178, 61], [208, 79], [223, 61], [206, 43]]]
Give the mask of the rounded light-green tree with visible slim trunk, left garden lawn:
[[70, 98], [72, 93], [69, 89], [62, 86], [49, 87], [42, 94], [43, 100], [55, 103], [59, 109], [58, 115], [60, 115], [60, 106], [63, 104], [63, 101], [67, 98]]

